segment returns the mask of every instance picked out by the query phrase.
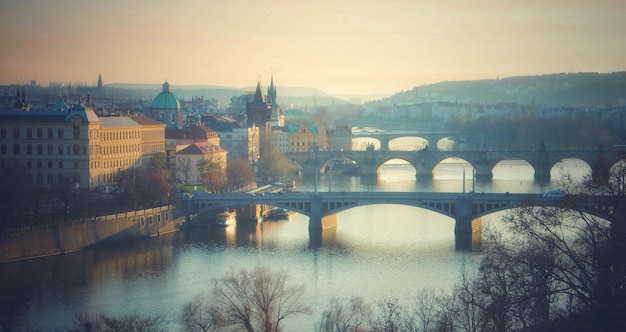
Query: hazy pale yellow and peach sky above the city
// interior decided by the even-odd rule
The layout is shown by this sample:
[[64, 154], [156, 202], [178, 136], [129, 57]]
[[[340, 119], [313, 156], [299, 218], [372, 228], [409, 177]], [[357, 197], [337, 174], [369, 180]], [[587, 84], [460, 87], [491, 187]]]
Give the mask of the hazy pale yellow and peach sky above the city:
[[623, 0], [2, 0], [0, 84], [395, 93], [626, 70]]

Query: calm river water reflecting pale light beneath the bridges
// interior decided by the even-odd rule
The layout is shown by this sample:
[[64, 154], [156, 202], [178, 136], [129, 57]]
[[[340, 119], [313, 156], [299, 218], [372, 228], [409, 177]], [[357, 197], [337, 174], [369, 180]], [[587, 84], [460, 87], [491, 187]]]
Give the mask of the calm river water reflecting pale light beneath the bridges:
[[[568, 160], [561, 167], [582, 177], [589, 167]], [[559, 177], [555, 167], [553, 178]], [[463, 173], [465, 172], [465, 183]], [[299, 191], [543, 192], [523, 162], [505, 162], [491, 181], [473, 182], [471, 166], [450, 160], [432, 180], [416, 180], [408, 165], [390, 162], [375, 179], [345, 175], [297, 178]], [[329, 188], [330, 187], [330, 188]], [[497, 222], [498, 215], [483, 218]], [[286, 331], [313, 331], [333, 297], [361, 296], [369, 302], [406, 302], [423, 288], [449, 290], [480, 253], [455, 251], [454, 221], [400, 205], [372, 205], [338, 214], [338, 226], [311, 243], [308, 218], [193, 229], [115, 247], [0, 265], [3, 312], [22, 326], [58, 331], [79, 312], [161, 315], [168, 330], [179, 330], [185, 303], [212, 289], [229, 271], [257, 265], [284, 269], [306, 287], [312, 313], [286, 320]]]

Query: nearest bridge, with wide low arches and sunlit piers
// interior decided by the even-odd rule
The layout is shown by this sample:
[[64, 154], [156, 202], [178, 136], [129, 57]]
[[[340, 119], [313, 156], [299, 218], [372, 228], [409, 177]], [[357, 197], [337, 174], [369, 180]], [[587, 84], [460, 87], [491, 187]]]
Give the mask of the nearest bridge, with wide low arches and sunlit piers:
[[[610, 220], [611, 210], [599, 204], [600, 198], [587, 199], [590, 213]], [[343, 193], [270, 193], [253, 196], [242, 193], [194, 195], [193, 212], [224, 209], [240, 205], [269, 205], [296, 211], [309, 217], [309, 232], [319, 233], [337, 226], [337, 213], [364, 205], [401, 204], [443, 214], [455, 220], [456, 248], [471, 249], [480, 242], [480, 217], [524, 205], [550, 206], [560, 200], [540, 194], [465, 194], [437, 192], [343, 192]], [[607, 212], [609, 211], [609, 212]]]

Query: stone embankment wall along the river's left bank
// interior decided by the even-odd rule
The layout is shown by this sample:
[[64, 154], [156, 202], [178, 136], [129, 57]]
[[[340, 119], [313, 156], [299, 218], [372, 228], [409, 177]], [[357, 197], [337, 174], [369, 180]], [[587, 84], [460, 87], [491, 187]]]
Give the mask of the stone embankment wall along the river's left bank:
[[184, 215], [167, 205], [54, 225], [7, 229], [0, 233], [0, 263], [158, 236], [178, 230], [184, 222]]

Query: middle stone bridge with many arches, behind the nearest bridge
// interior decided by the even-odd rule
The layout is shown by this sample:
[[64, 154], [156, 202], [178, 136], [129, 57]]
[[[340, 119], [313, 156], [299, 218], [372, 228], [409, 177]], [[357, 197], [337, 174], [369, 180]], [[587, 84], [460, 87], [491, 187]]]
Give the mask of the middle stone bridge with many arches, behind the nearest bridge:
[[[535, 170], [535, 179], [550, 179], [550, 170], [558, 162], [576, 158], [587, 163], [596, 174], [608, 174], [612, 165], [626, 158], [624, 151], [600, 150], [503, 150], [503, 151], [316, 151], [287, 153], [302, 167], [305, 174], [323, 173], [334, 160], [351, 159], [360, 167], [360, 174], [375, 176], [379, 168], [392, 159], [401, 159], [413, 166], [416, 177], [432, 177], [433, 169], [447, 158], [460, 158], [467, 161], [475, 170], [476, 178], [491, 179], [493, 168], [501, 161], [524, 160]], [[471, 171], [471, 170], [468, 170]], [[599, 173], [597, 173], [599, 172]], [[594, 174], [595, 176], [595, 174]]]

